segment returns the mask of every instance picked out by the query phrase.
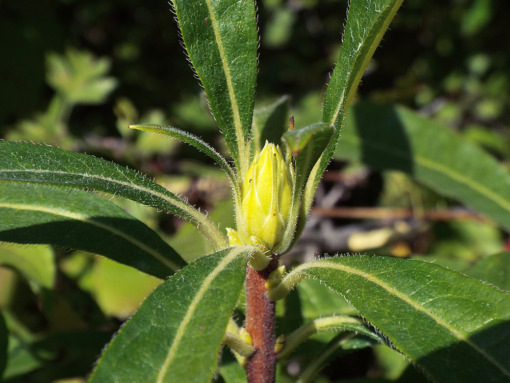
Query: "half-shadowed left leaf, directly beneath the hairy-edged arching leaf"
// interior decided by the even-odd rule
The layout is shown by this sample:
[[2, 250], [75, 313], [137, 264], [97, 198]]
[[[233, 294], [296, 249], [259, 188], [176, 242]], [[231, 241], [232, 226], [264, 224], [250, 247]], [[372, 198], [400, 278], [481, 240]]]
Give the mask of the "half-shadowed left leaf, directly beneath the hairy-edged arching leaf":
[[186, 266], [158, 234], [114, 203], [43, 185], [0, 182], [0, 241], [84, 250], [159, 278]]

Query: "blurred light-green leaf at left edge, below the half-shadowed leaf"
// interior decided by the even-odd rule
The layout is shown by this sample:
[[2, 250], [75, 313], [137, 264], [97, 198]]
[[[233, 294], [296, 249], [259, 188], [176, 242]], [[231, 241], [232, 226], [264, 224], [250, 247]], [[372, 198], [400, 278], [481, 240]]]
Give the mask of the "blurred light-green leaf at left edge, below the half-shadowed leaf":
[[[3, 185], [0, 184], [0, 190]], [[0, 196], [0, 220], [3, 218], [2, 201], [4, 196]], [[0, 238], [5, 222], [0, 222]], [[53, 249], [47, 246], [37, 246], [32, 248], [22, 248], [5, 244], [0, 246], [0, 265], [5, 265], [16, 269], [28, 281], [36, 286], [53, 289], [57, 267], [55, 265]]]

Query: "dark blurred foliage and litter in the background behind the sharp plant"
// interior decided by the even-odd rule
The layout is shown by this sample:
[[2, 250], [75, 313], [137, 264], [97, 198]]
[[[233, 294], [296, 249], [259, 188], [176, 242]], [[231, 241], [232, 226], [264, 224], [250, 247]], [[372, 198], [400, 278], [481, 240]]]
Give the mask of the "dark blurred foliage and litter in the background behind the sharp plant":
[[[259, 0], [257, 6], [256, 106], [287, 94], [296, 127], [319, 121], [347, 0]], [[509, 15], [510, 3], [501, 0], [406, 0], [369, 64], [356, 101], [410, 107], [508, 166]], [[209, 211], [221, 227], [234, 226], [230, 187], [209, 158], [127, 128], [178, 126], [225, 152], [166, 2], [0, 0], [0, 52], [0, 138], [44, 142], [133, 167]], [[187, 260], [211, 250], [180, 220], [117, 202]], [[338, 207], [343, 208], [339, 216], [324, 213]], [[446, 216], [427, 216], [438, 209]], [[418, 213], [403, 217], [404, 210]], [[489, 269], [476, 264], [492, 262], [490, 270], [497, 270], [501, 256], [489, 256], [508, 249], [507, 233], [465, 210], [403, 173], [334, 160], [302, 241], [284, 261], [291, 266], [314, 253], [370, 252], [434, 260], [490, 280]], [[0, 265], [0, 345], [7, 326], [4, 381], [10, 383], [81, 381], [120, 323], [159, 283], [108, 259], [48, 247], [4, 244]], [[494, 272], [495, 278], [506, 283], [508, 271], [501, 270], [504, 275]], [[332, 313], [324, 311], [330, 307], [324, 302], [337, 298], [307, 284], [287, 300], [305, 308], [299, 320], [282, 303], [282, 328], [292, 320], [352, 314], [345, 302]], [[333, 337], [313, 339], [315, 348], [308, 352]], [[282, 372], [283, 381], [305, 364], [307, 352], [301, 351]], [[338, 368], [326, 370], [321, 381], [364, 376], [419, 381], [386, 347], [360, 352], [335, 360]]]

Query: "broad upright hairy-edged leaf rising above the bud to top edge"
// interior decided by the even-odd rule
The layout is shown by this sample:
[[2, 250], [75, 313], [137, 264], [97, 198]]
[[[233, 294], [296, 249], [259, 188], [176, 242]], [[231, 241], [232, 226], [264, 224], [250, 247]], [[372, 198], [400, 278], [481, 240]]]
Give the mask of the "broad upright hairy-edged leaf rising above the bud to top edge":
[[257, 23], [249, 1], [172, 1], [193, 67], [238, 172], [249, 166], [257, 77]]

